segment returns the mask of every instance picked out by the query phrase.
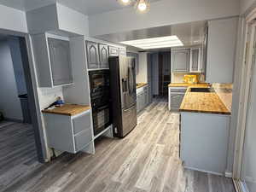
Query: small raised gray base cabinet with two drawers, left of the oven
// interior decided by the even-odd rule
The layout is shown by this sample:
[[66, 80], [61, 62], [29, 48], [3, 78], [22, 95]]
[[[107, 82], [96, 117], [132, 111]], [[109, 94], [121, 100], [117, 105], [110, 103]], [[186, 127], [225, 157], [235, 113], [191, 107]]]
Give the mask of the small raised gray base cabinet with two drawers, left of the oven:
[[44, 113], [49, 147], [73, 154], [85, 150], [94, 141], [90, 113], [90, 110], [74, 116]]

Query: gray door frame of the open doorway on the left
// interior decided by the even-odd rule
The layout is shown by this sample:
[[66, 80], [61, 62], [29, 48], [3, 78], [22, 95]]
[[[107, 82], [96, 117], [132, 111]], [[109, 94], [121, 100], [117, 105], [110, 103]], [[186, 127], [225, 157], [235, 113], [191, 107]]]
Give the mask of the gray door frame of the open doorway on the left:
[[22, 66], [24, 68], [27, 95], [30, 100], [29, 108], [32, 115], [32, 127], [34, 131], [35, 144], [37, 149], [38, 161], [44, 163], [48, 161], [48, 148], [44, 133], [43, 119], [39, 106], [38, 80], [35, 68], [35, 60], [32, 52], [31, 35], [23, 32], [14, 32], [0, 29], [0, 34], [15, 36], [19, 38]]

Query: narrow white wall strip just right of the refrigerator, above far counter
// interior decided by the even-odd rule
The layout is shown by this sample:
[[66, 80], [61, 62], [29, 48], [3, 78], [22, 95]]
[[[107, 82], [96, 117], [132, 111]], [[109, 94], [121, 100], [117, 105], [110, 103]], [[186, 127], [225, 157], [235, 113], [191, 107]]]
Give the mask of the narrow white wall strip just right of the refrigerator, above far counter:
[[148, 83], [148, 53], [139, 53], [139, 66], [136, 75], [137, 83]]

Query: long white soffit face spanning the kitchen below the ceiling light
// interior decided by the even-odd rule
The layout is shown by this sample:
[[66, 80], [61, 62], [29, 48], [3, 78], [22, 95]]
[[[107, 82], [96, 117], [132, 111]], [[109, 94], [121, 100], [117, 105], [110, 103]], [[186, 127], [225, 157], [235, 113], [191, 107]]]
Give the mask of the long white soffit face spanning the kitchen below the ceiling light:
[[146, 14], [119, 9], [89, 17], [90, 36], [239, 15], [239, 0], [162, 0]]

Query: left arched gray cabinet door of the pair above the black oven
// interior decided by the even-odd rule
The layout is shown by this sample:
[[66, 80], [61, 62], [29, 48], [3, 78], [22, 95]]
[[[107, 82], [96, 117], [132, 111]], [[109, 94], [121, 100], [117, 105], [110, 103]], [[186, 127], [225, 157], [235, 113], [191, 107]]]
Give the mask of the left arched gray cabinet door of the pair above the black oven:
[[87, 41], [86, 49], [87, 49], [88, 68], [89, 69], [98, 68], [99, 67], [98, 45], [94, 42]]

